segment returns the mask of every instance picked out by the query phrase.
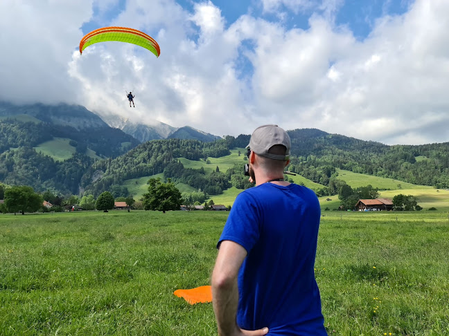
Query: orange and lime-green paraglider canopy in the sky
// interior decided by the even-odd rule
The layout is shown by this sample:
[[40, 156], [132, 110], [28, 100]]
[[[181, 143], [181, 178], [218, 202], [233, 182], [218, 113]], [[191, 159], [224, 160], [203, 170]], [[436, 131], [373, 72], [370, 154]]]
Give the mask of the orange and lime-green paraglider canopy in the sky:
[[159, 44], [150, 35], [146, 35], [145, 32], [141, 32], [140, 30], [125, 27], [105, 27], [89, 32], [80, 41], [80, 53], [82, 54], [82, 50], [85, 50], [91, 44], [105, 41], [120, 41], [136, 44], [137, 46], [150, 50], [156, 57], [159, 57], [161, 53]]

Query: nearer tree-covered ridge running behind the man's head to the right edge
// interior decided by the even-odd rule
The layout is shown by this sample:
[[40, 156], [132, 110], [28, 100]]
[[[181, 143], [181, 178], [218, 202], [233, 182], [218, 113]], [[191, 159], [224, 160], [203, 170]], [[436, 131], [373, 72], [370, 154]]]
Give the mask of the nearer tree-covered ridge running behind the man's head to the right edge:
[[[191, 132], [186, 127], [182, 131]], [[288, 169], [324, 187], [317, 190], [320, 196], [337, 191], [337, 169], [404, 181], [415, 185], [431, 185], [439, 189], [449, 187], [449, 142], [421, 146], [388, 146], [380, 142], [364, 141], [319, 129], [294, 129], [288, 131], [292, 140], [291, 161]], [[174, 136], [173, 134], [172, 136]], [[182, 136], [179, 133], [178, 136]], [[191, 136], [191, 134], [188, 134]], [[176, 140], [176, 141], [174, 141]], [[242, 167], [229, 171], [216, 171], [209, 176], [204, 170], [186, 168], [179, 158], [206, 160], [229, 155], [229, 149], [245, 147], [249, 136], [226, 136], [213, 142], [166, 139], [139, 144], [135, 149], [107, 162], [96, 162], [82, 178], [83, 187], [94, 195], [106, 189], [126, 192], [126, 180], [164, 173], [177, 183], [193, 189], [220, 194], [227, 189], [222, 184], [226, 174], [232, 185], [245, 180]], [[240, 162], [242, 165], [244, 161]], [[217, 183], [213, 187], [213, 181]], [[220, 181], [220, 182], [218, 182]], [[137, 183], [137, 181], [135, 181]], [[221, 183], [221, 184], [220, 184]], [[340, 183], [341, 184], [341, 183]], [[234, 185], [234, 186], [236, 186]]]

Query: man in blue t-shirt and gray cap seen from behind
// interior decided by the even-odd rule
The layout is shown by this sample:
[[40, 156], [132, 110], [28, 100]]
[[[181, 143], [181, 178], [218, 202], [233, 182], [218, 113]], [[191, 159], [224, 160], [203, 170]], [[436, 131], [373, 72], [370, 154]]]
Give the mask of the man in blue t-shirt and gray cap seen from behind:
[[290, 137], [276, 125], [249, 140], [256, 182], [234, 202], [212, 273], [219, 335], [327, 335], [315, 281], [320, 208], [315, 193], [283, 179]]

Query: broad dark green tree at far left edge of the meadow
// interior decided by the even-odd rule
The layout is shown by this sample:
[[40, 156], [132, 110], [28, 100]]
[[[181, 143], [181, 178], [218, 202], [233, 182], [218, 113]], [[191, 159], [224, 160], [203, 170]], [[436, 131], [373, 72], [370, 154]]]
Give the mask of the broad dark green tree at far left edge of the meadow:
[[5, 207], [14, 214], [36, 212], [42, 207], [42, 201], [42, 196], [26, 185], [11, 187], [5, 191]]

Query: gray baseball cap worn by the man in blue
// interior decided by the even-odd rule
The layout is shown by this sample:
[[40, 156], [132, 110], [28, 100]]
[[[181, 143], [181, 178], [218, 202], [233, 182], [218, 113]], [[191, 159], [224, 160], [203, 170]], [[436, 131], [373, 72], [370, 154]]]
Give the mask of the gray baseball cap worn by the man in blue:
[[[285, 147], [285, 155], [268, 153], [275, 144], [282, 144]], [[246, 148], [251, 149], [259, 156], [274, 160], [290, 160], [290, 136], [278, 125], [263, 125], [252, 133], [249, 144]]]

